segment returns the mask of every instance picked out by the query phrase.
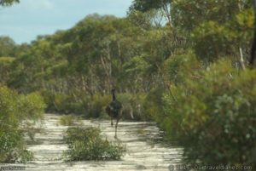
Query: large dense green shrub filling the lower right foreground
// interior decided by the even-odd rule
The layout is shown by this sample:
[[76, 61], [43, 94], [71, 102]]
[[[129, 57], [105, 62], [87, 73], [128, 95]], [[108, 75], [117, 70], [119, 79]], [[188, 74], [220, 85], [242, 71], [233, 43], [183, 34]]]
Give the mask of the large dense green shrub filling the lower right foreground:
[[186, 162], [255, 167], [256, 71], [212, 64], [165, 95], [160, 127], [184, 146]]

